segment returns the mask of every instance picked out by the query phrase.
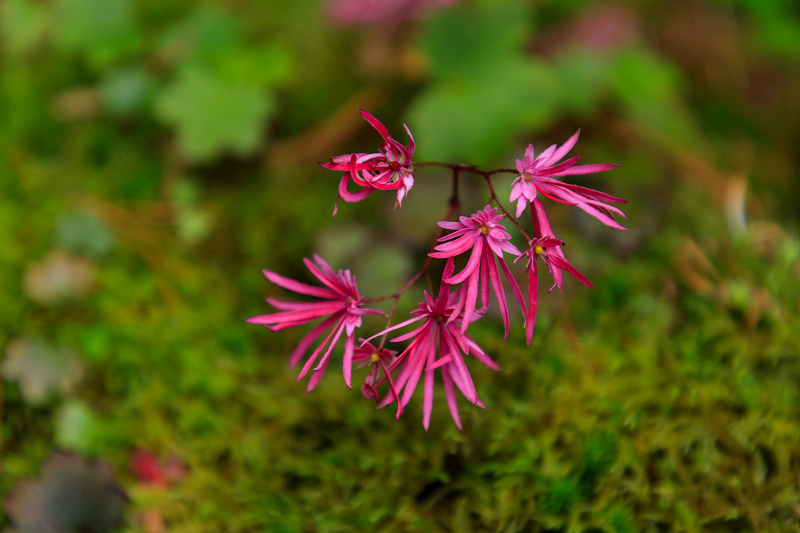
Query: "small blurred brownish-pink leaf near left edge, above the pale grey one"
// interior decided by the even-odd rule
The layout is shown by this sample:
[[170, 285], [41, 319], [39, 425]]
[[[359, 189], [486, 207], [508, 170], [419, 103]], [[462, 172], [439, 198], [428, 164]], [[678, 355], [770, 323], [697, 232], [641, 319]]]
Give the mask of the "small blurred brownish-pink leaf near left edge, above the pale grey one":
[[25, 292], [37, 303], [78, 298], [94, 289], [97, 273], [87, 259], [51, 252], [41, 263], [25, 268]]

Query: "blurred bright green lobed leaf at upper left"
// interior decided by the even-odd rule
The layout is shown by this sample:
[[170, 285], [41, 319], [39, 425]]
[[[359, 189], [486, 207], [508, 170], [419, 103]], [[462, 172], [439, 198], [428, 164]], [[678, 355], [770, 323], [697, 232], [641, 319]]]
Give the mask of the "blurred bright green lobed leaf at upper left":
[[178, 145], [194, 162], [224, 152], [252, 153], [261, 142], [264, 121], [274, 107], [267, 92], [220, 80], [202, 68], [181, 69], [156, 100], [156, 115], [174, 126]]

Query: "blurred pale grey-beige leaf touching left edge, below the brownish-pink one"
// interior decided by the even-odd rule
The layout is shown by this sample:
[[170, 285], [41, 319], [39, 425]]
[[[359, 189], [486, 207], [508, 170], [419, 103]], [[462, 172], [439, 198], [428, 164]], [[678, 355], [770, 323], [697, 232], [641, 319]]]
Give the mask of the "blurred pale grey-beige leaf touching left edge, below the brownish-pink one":
[[0, 371], [19, 384], [25, 401], [39, 404], [51, 394], [70, 392], [83, 376], [83, 363], [70, 350], [40, 339], [16, 338], [6, 349]]

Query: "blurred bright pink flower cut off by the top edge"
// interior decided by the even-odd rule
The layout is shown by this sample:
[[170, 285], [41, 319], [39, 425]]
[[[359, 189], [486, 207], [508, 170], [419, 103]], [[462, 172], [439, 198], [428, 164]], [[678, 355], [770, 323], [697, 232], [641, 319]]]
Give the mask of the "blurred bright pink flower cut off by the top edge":
[[342, 26], [367, 25], [411, 20], [431, 4], [453, 4], [458, 0], [330, 0], [327, 10]]

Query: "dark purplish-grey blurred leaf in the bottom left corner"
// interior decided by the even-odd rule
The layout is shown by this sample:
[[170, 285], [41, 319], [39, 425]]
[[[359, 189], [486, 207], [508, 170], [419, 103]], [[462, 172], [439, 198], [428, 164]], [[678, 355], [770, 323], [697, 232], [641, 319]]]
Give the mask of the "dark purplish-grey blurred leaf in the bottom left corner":
[[12, 533], [106, 533], [122, 524], [126, 500], [107, 463], [56, 453], [38, 482], [25, 480], [11, 491], [5, 509]]

